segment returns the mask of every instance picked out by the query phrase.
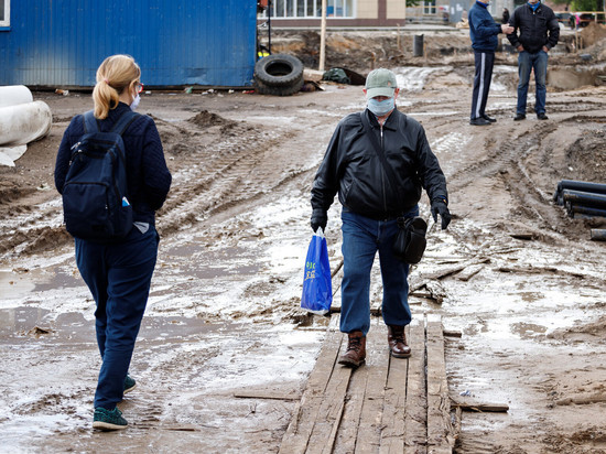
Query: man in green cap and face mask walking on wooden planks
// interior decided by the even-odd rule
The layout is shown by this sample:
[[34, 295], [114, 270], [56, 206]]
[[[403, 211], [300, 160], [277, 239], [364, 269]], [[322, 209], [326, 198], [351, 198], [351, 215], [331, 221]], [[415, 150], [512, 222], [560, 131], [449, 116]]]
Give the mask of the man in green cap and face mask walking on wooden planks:
[[[366, 358], [370, 328], [370, 270], [377, 250], [383, 281], [383, 321], [391, 355], [409, 357], [404, 327], [411, 321], [408, 304], [409, 266], [392, 251], [397, 218], [419, 214], [422, 188], [428, 192], [434, 220], [451, 220], [446, 179], [430, 149], [423, 127], [396, 109], [396, 75], [372, 71], [364, 89], [367, 109], [338, 123], [312, 188], [312, 228], [326, 227], [335, 194], [343, 205], [343, 259], [340, 331], [348, 334], [347, 352], [339, 364], [357, 367]], [[372, 136], [375, 138], [372, 138]], [[397, 175], [393, 187], [377, 148]]]

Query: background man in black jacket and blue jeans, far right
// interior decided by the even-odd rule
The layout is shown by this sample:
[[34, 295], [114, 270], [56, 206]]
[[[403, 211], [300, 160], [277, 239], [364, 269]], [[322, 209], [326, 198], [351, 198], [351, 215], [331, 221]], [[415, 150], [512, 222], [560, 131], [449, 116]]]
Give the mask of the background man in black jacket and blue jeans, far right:
[[537, 85], [537, 100], [534, 112], [539, 120], [547, 120], [545, 97], [548, 75], [548, 52], [558, 44], [560, 25], [552, 9], [541, 4], [540, 0], [529, 0], [528, 3], [518, 7], [509, 23], [513, 26], [507, 37], [518, 55], [518, 106], [515, 121], [526, 119], [526, 99], [528, 96], [528, 83], [530, 72], [534, 69]]

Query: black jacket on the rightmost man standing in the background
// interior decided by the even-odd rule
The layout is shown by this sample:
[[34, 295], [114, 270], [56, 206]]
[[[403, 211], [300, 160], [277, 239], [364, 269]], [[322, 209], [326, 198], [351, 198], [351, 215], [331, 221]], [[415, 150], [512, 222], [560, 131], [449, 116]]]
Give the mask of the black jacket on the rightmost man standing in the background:
[[518, 7], [509, 24], [513, 26], [513, 33], [507, 39], [513, 47], [520, 44], [524, 51], [535, 54], [543, 46], [552, 48], [558, 44], [560, 37], [560, 25], [553, 10], [544, 4], [539, 4], [533, 11], [528, 3]]

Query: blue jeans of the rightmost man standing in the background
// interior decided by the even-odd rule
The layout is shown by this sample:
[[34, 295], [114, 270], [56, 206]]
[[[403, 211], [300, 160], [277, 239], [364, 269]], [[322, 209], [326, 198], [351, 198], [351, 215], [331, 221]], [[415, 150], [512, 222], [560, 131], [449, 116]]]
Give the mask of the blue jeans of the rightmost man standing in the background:
[[518, 55], [518, 107], [516, 114], [526, 115], [526, 98], [528, 96], [528, 83], [530, 82], [530, 72], [534, 69], [534, 83], [537, 85], [537, 100], [534, 111], [537, 114], [545, 112], [547, 97], [547, 75], [548, 75], [548, 53], [539, 51], [535, 54], [520, 52]]

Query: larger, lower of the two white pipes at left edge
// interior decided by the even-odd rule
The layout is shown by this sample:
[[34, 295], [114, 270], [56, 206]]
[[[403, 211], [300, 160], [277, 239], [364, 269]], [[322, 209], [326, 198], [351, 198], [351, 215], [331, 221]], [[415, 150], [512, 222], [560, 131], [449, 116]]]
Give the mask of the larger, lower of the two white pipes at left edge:
[[51, 131], [53, 114], [46, 102], [33, 101], [0, 108], [0, 145], [24, 145]]

